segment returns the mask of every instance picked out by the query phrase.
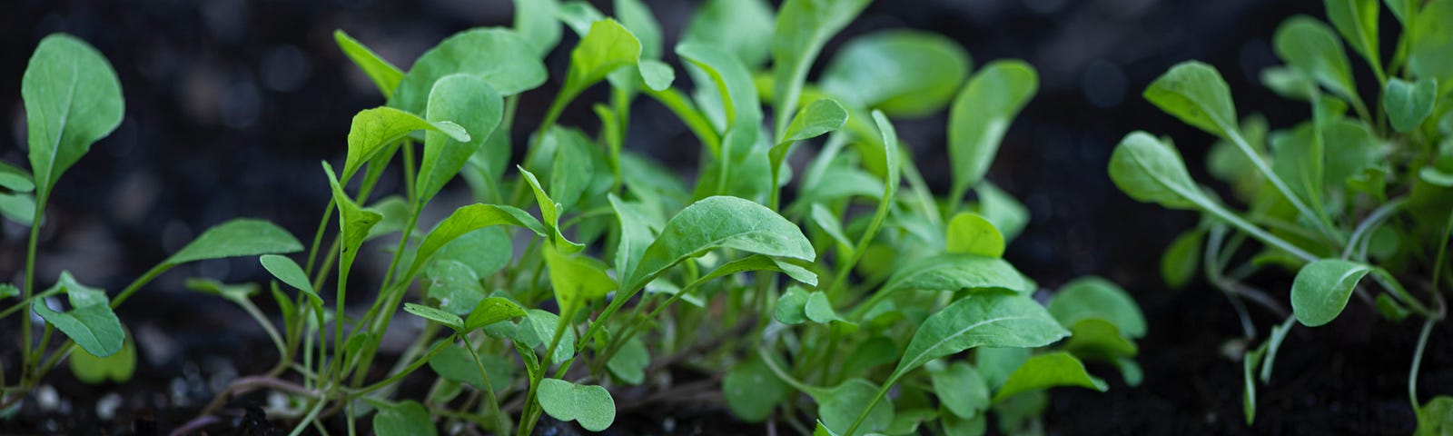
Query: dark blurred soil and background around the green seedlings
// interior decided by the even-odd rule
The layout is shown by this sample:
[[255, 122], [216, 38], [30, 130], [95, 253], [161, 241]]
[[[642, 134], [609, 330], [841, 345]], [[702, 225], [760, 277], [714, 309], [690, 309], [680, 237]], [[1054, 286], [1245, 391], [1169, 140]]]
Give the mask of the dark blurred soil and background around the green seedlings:
[[[594, 3], [609, 10], [609, 1]], [[648, 3], [665, 35], [677, 35], [693, 9], [693, 1]], [[0, 147], [0, 158], [25, 163], [19, 83], [44, 35], [64, 31], [90, 41], [115, 64], [126, 94], [126, 121], [57, 187], [38, 276], [44, 282], [68, 269], [81, 282], [121, 289], [201, 230], [240, 215], [311, 234], [327, 201], [317, 163], [340, 160], [352, 115], [381, 103], [333, 45], [333, 29], [346, 29], [385, 58], [404, 61], [452, 32], [507, 25], [509, 4], [10, 1], [0, 16], [0, 38], [7, 41], [0, 49], [0, 110], [7, 115], [4, 142], [16, 147]], [[1257, 423], [1247, 427], [1237, 358], [1244, 344], [1232, 342], [1241, 333], [1235, 312], [1216, 291], [1203, 285], [1170, 291], [1158, 278], [1159, 251], [1194, 224], [1194, 214], [1136, 203], [1104, 174], [1119, 138], [1146, 129], [1173, 135], [1197, 179], [1209, 180], [1199, 158], [1210, 138], [1139, 97], [1146, 83], [1183, 60], [1218, 65], [1241, 113], [1261, 112], [1276, 128], [1303, 118], [1308, 108], [1276, 99], [1255, 77], [1277, 62], [1267, 41], [1280, 20], [1295, 13], [1322, 16], [1319, 7], [1321, 1], [1305, 0], [881, 0], [849, 28], [847, 33], [936, 31], [963, 44], [976, 65], [1024, 58], [1042, 74], [1039, 96], [1016, 121], [989, 173], [1035, 217], [1007, 257], [1046, 286], [1080, 275], [1119, 282], [1135, 294], [1151, 327], [1141, 343], [1145, 382], [1129, 388], [1113, 371], [1093, 368], [1109, 375], [1113, 388], [1106, 394], [1055, 391], [1046, 414], [1051, 433], [1405, 435], [1414, 427], [1405, 378], [1418, 327], [1376, 320], [1357, 304], [1329, 326], [1293, 330], [1271, 384], [1260, 389]], [[562, 77], [565, 62], [559, 54], [549, 60], [552, 77]], [[527, 94], [519, 119], [539, 119], [558, 84]], [[565, 124], [593, 129], [587, 109], [575, 105]], [[673, 164], [696, 161], [695, 147], [679, 147], [695, 144], [689, 132], [676, 122], [657, 122], [670, 119], [668, 113], [651, 102], [636, 110], [641, 124], [628, 147]], [[939, 192], [949, 179], [943, 124], [943, 116], [934, 116], [899, 125]], [[22, 278], [25, 231], [0, 225], [0, 276], [6, 280]], [[198, 275], [227, 282], [263, 278], [256, 262], [247, 260], [205, 262], [167, 273], [121, 311], [139, 340], [134, 381], [90, 387], [61, 368], [35, 392], [35, 401], [26, 401], [19, 420], [0, 420], [0, 433], [166, 433], [193, 417], [216, 387], [266, 371], [276, 356], [251, 320], [221, 299], [182, 291], [182, 282]], [[1268, 280], [1267, 289], [1284, 295], [1286, 283]], [[1263, 331], [1276, 321], [1255, 315]], [[13, 344], [17, 331], [6, 324], [0, 340]], [[1422, 400], [1450, 394], [1453, 387], [1450, 326], [1440, 326], [1428, 344]], [[0, 349], [0, 359], [15, 362], [17, 350]], [[6, 369], [13, 381], [15, 365]], [[51, 392], [55, 401], [42, 401]], [[42, 403], [49, 408], [42, 410]], [[248, 405], [260, 404], [266, 395], [234, 401], [212, 432], [275, 435], [269, 432], [278, 430], [276, 423], [256, 408], [248, 413]], [[623, 414], [612, 432], [761, 433], [734, 424], [719, 407], [700, 404], [641, 407]], [[97, 408], [113, 413], [99, 416]], [[539, 433], [575, 432], [542, 423]]]

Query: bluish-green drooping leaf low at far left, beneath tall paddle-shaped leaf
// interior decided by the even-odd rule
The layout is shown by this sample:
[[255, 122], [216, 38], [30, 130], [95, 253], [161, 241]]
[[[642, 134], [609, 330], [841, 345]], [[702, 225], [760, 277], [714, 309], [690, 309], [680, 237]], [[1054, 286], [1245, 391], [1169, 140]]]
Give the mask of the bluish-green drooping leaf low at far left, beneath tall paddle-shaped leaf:
[[106, 358], [121, 350], [126, 331], [121, 328], [121, 320], [110, 310], [106, 291], [76, 282], [70, 272], [61, 272], [55, 285], [46, 289], [46, 292], [55, 291], [65, 292], [71, 302], [70, 311], [54, 311], [45, 305], [45, 299], [32, 302], [31, 310], [92, 356]]

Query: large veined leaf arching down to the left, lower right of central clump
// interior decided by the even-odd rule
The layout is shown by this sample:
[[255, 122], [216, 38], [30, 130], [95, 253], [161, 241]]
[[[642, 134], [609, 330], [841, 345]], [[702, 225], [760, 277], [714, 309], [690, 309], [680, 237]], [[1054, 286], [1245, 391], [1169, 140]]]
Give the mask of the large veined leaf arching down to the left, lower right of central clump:
[[895, 382], [928, 360], [972, 347], [1039, 347], [1065, 336], [1069, 331], [1029, 296], [976, 294], [928, 315], [888, 379]]

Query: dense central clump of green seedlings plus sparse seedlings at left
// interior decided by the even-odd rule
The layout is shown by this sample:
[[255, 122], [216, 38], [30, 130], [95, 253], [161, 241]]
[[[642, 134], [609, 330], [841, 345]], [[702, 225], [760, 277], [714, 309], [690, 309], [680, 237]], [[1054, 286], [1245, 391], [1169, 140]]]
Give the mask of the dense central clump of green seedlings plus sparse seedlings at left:
[[[1136, 385], [1146, 324], [1125, 291], [1082, 278], [1040, 304], [1001, 259], [1027, 212], [985, 174], [1036, 93], [1035, 70], [1008, 60], [972, 71], [953, 41], [902, 29], [849, 39], [809, 81], [867, 3], [705, 1], [671, 48], [679, 65], [639, 0], [616, 0], [613, 17], [520, 0], [513, 28], [459, 32], [407, 71], [339, 31], [385, 103], [353, 118], [341, 163], [321, 164], [331, 199], [311, 243], [230, 221], [119, 294], [70, 275], [38, 291], [33, 278], [51, 187], [124, 112], [106, 60], [52, 35], [22, 83], [31, 171], [0, 166], [6, 217], [32, 227], [25, 283], [0, 288], [3, 315], [22, 314], [23, 328], [22, 376], [3, 405], [67, 356], [84, 381], [126, 379], [135, 344], [112, 310], [177, 265], [221, 257], [256, 257], [275, 280], [189, 288], [251, 314], [279, 360], [182, 432], [254, 389], [286, 395], [269, 417], [292, 435], [327, 433], [337, 414], [350, 435], [365, 423], [378, 435], [530, 435], [546, 414], [604, 430], [636, 400], [620, 395], [631, 387], [667, 398], [706, 387], [742, 421], [804, 435], [981, 435], [991, 413], [1020, 433], [1039, 429], [1048, 388], [1107, 388], [1082, 360]], [[578, 42], [554, 103], [516, 119], [522, 96], [551, 80], [542, 60], [567, 28]], [[597, 86], [609, 87], [590, 103], [599, 131], [556, 124]], [[647, 99], [699, 140], [692, 183], [625, 147]], [[927, 187], [894, 129], [944, 109], [947, 195]], [[513, 144], [520, 125], [532, 134]], [[805, 166], [789, 164], [814, 144]], [[389, 169], [404, 189], [375, 192]], [[421, 222], [453, 179], [478, 202]], [[375, 251], [389, 259], [382, 280], [355, 279]], [[253, 304], [260, 289], [278, 314]], [[62, 294], [70, 310], [54, 308]], [[29, 312], [46, 321], [39, 340]], [[381, 353], [385, 333], [417, 318], [427, 323], [407, 350]], [[429, 389], [404, 397], [404, 379]]]

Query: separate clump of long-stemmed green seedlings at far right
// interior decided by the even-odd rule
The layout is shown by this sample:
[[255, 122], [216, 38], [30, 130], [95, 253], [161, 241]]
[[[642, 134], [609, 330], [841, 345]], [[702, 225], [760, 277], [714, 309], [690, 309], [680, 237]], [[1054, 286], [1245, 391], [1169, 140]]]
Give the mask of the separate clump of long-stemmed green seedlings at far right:
[[[1284, 65], [1261, 74], [1273, 92], [1309, 103], [1303, 122], [1271, 129], [1258, 115], [1238, 121], [1221, 73], [1196, 61], [1173, 67], [1145, 90], [1145, 99], [1161, 110], [1219, 140], [1207, 156], [1209, 170], [1234, 183], [1234, 202], [1223, 203], [1199, 186], [1170, 138], [1132, 132], [1109, 166], [1110, 179], [1130, 198], [1205, 215], [1167, 249], [1161, 275], [1181, 288], [1202, 272], [1238, 307], [1248, 342], [1241, 356], [1247, 423], [1255, 417], [1257, 384], [1270, 381], [1287, 331], [1295, 324], [1328, 324], [1356, 310], [1348, 305], [1353, 301], [1393, 321], [1422, 320], [1408, 374], [1408, 398], [1421, 416], [1422, 349], [1447, 312], [1443, 276], [1453, 231], [1447, 201], [1453, 125], [1444, 119], [1453, 112], [1443, 84], [1453, 73], [1447, 55], [1453, 1], [1322, 3], [1331, 25], [1309, 16], [1287, 19], [1273, 38]], [[1389, 33], [1379, 29], [1383, 6], [1402, 25], [1396, 41], [1380, 39]], [[1391, 60], [1382, 54], [1389, 47], [1396, 47]], [[1375, 87], [1359, 89], [1354, 73], [1360, 65], [1350, 61], [1348, 49], [1364, 61]], [[1377, 93], [1366, 97], [1375, 105], [1364, 103], [1364, 90]], [[1234, 203], [1247, 205], [1245, 211]], [[1284, 283], [1274, 276], [1287, 270], [1296, 270], [1290, 289], [1248, 282]], [[1402, 283], [1421, 285], [1407, 289]], [[1051, 302], [1056, 317], [1059, 298]], [[1260, 344], [1251, 343], [1255, 317], [1244, 301], [1286, 317]], [[1107, 314], [1098, 320], [1104, 324], [1065, 321], [1074, 323], [1067, 326], [1075, 336], [1065, 349], [1113, 362], [1128, 381], [1138, 376], [1138, 368], [1120, 360], [1135, 352], [1128, 342], [1138, 337], [1132, 327]]]

